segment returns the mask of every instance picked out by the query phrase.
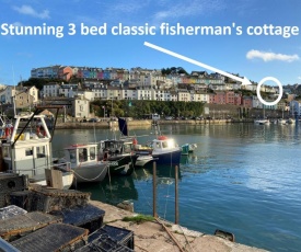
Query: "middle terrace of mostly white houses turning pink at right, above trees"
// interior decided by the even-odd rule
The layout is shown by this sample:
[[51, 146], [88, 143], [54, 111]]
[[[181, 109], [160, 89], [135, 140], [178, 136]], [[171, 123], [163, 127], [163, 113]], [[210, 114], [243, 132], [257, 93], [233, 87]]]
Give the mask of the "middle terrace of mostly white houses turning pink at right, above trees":
[[[202, 102], [213, 104], [232, 104], [245, 107], [263, 108], [264, 105], [256, 95], [245, 96], [236, 90], [211, 90], [204, 84], [181, 83], [173, 87], [164, 84], [143, 87], [139, 84], [103, 84], [83, 82], [81, 84], [60, 84], [49, 83], [43, 88], [44, 98], [74, 98], [81, 95], [88, 101], [94, 100], [149, 100], [149, 101], [183, 101], [183, 102]], [[270, 93], [270, 96], [277, 98], [277, 93]], [[275, 106], [265, 108], [282, 108], [285, 102]]]

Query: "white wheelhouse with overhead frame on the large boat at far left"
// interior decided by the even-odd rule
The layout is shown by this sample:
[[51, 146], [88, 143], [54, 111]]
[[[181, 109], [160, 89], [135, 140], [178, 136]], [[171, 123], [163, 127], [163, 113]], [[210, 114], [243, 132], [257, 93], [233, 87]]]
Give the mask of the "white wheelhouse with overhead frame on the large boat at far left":
[[[26, 124], [31, 116], [16, 116], [13, 127], [7, 125], [0, 144], [3, 170], [28, 175], [30, 179], [44, 175], [45, 169], [51, 167], [51, 136], [44, 115], [35, 115], [36, 121]], [[36, 122], [39, 122], [38, 129]], [[42, 128], [43, 134], [38, 134]]]

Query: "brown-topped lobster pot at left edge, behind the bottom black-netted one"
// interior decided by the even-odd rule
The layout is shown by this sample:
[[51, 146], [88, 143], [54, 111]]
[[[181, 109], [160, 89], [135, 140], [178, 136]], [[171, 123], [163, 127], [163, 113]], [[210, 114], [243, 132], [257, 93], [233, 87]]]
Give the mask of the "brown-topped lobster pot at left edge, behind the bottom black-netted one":
[[40, 211], [16, 215], [8, 219], [0, 220], [0, 237], [8, 241], [13, 241], [49, 224], [61, 222], [58, 216], [51, 216]]

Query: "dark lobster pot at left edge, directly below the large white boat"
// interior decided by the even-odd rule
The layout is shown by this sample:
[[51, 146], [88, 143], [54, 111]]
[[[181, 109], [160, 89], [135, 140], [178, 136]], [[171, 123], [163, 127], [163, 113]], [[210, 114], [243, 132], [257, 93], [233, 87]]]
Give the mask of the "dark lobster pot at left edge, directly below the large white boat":
[[10, 194], [28, 187], [28, 177], [13, 173], [0, 173], [0, 207], [10, 205]]

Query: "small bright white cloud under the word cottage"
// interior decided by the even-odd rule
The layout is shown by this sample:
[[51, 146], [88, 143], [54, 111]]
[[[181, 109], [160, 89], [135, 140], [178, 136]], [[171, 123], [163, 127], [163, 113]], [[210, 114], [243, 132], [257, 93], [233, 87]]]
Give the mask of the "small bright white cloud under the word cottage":
[[254, 50], [254, 49], [248, 50], [246, 53], [246, 58], [247, 59], [259, 58], [259, 59], [263, 59], [265, 62], [273, 61], [273, 60], [292, 62], [292, 61], [299, 60], [299, 56], [296, 54], [294, 55], [283, 55], [283, 54], [275, 54], [275, 53]]

